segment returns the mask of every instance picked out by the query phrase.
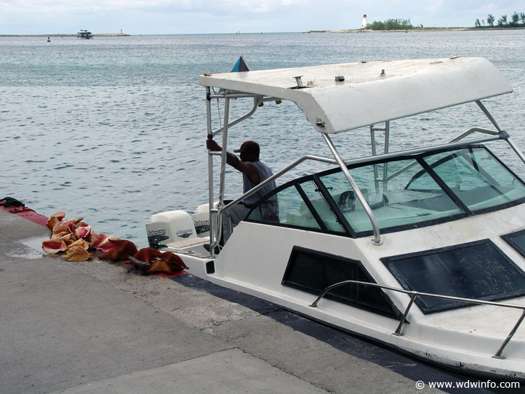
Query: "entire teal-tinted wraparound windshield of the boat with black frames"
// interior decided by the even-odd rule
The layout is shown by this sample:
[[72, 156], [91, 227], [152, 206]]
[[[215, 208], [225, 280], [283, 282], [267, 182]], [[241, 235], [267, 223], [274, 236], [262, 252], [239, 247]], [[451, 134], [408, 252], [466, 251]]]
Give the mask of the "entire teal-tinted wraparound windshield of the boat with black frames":
[[[382, 232], [525, 202], [524, 183], [484, 146], [360, 164], [349, 171]], [[340, 169], [287, 183], [274, 195], [277, 216], [266, 219], [254, 209], [247, 219], [352, 237], [372, 232], [370, 218]]]

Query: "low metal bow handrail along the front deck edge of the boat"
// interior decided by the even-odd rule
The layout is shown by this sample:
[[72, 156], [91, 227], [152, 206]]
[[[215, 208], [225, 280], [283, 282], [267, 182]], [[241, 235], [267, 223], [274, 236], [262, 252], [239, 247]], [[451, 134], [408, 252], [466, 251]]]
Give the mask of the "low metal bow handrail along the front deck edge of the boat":
[[433, 293], [421, 293], [419, 291], [405, 290], [405, 289], [401, 289], [401, 288], [394, 288], [392, 286], [380, 285], [379, 283], [370, 283], [370, 282], [363, 282], [363, 281], [342, 281], [342, 282], [339, 282], [339, 283], [335, 283], [335, 284], [333, 284], [331, 286], [328, 286], [327, 288], [325, 288], [325, 290], [323, 290], [321, 292], [321, 295], [319, 295], [316, 298], [316, 300], [309, 306], [312, 307], [312, 308], [317, 307], [317, 304], [321, 300], [321, 298], [323, 298], [326, 295], [326, 293], [328, 293], [330, 290], [332, 290], [333, 288], [337, 288], [339, 286], [345, 286], [345, 285], [348, 285], [348, 284], [372, 286], [372, 287], [375, 287], [375, 288], [382, 288], [382, 289], [386, 289], [386, 290], [393, 290], [393, 291], [397, 291], [398, 293], [405, 293], [405, 294], [410, 295], [410, 301], [409, 301], [409, 303], [407, 305], [407, 308], [405, 309], [405, 313], [403, 314], [403, 316], [402, 316], [402, 318], [401, 318], [401, 320], [399, 322], [398, 328], [395, 330], [395, 332], [393, 332], [393, 335], [397, 335], [398, 337], [402, 336], [402, 333], [401, 333], [402, 325], [405, 323], [405, 321], [407, 321], [408, 312], [409, 312], [410, 308], [412, 307], [412, 304], [414, 304], [414, 301], [416, 300], [416, 297], [433, 297], [433, 298], [440, 298], [442, 300], [469, 302], [471, 304], [484, 304], [484, 305], [492, 305], [494, 307], [505, 307], [505, 308], [512, 308], [512, 309], [521, 309], [521, 311], [522, 311], [521, 316], [519, 316], [518, 321], [516, 322], [516, 324], [514, 324], [514, 327], [512, 328], [512, 330], [510, 330], [509, 335], [507, 335], [507, 337], [503, 341], [503, 344], [501, 344], [501, 346], [498, 349], [498, 351], [496, 351], [496, 354], [494, 356], [492, 356], [493, 358], [500, 358], [500, 359], [504, 358], [504, 357], [501, 356], [501, 354], [503, 353], [503, 349], [505, 349], [505, 346], [507, 346], [507, 344], [510, 342], [510, 339], [512, 339], [512, 337], [516, 333], [517, 329], [519, 328], [519, 325], [521, 324], [521, 322], [525, 318], [525, 306], [522, 306], [522, 305], [503, 304], [503, 302], [472, 300], [472, 298], [453, 297], [451, 295], [440, 295], [440, 294], [433, 294]]

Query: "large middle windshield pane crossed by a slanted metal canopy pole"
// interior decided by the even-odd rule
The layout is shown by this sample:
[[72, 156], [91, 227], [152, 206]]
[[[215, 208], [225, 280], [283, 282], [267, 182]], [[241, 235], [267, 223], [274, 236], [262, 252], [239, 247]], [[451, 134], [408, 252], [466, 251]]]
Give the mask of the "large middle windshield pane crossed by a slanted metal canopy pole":
[[[349, 171], [381, 230], [463, 213], [416, 160], [369, 164]], [[408, 188], [416, 174], [417, 188]], [[353, 230], [357, 233], [371, 231], [370, 219], [355, 192], [349, 190], [342, 171], [320, 178]]]

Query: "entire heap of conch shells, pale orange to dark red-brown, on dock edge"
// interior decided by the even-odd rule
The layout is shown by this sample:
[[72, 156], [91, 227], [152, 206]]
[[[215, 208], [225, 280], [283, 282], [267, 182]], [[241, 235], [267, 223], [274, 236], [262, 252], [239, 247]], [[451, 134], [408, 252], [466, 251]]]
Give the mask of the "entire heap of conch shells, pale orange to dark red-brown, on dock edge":
[[138, 250], [132, 241], [107, 237], [94, 232], [92, 226], [83, 219], [66, 220], [66, 213], [59, 211], [48, 220], [51, 238], [42, 242], [42, 249], [47, 253], [64, 252], [62, 258], [67, 261], [87, 261], [93, 253], [101, 251], [101, 259], [124, 260], [134, 267], [136, 274], [151, 273], [174, 274], [188, 269], [183, 260], [172, 252], [160, 252], [154, 248]]

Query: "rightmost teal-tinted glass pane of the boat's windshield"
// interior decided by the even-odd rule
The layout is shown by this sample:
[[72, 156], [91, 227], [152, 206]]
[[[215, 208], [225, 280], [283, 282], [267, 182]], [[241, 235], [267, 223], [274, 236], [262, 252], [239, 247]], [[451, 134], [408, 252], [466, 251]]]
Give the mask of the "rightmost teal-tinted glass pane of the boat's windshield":
[[525, 198], [519, 178], [482, 147], [438, 153], [424, 160], [470, 211]]

